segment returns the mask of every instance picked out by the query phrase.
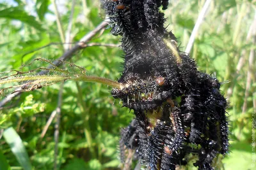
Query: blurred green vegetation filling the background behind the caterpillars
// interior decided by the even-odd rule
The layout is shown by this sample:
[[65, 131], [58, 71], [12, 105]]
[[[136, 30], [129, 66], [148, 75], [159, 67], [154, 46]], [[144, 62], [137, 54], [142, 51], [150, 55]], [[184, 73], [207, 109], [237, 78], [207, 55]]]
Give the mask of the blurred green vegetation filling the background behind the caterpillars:
[[[173, 0], [164, 11], [166, 26], [179, 38], [181, 50], [188, 43], [204, 3]], [[104, 20], [104, 15], [99, 0], [0, 0], [0, 71], [19, 69], [36, 57], [58, 59], [67, 48], [62, 44], [65, 39], [79, 41]], [[120, 45], [120, 38], [109, 31], [99, 32], [90, 43]], [[256, 169], [255, 41], [255, 0], [211, 2], [196, 34], [191, 57], [200, 70], [216, 74], [223, 82], [221, 90], [229, 103], [230, 153], [218, 160], [221, 166], [216, 169]], [[45, 48], [38, 50], [42, 46]], [[84, 67], [89, 75], [117, 80], [122, 71], [122, 55], [118, 47], [92, 46], [77, 51], [70, 62]], [[47, 64], [33, 62], [23, 69], [40, 66]], [[60, 89], [61, 83], [22, 93], [1, 108], [1, 170], [118, 169], [119, 132], [131, 122], [132, 111], [121, 108], [106, 85], [67, 81], [63, 85], [60, 119], [53, 118], [42, 138], [47, 120], [58, 106]], [[59, 134], [55, 130], [58, 120]], [[56, 148], [58, 154], [54, 154]]]

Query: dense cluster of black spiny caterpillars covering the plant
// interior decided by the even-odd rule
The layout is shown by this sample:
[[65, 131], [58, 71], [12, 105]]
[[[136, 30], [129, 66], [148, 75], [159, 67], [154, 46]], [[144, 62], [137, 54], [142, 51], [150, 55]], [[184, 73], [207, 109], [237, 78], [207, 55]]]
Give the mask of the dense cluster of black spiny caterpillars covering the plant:
[[198, 169], [214, 169], [212, 160], [228, 152], [227, 102], [220, 82], [197, 70], [164, 28], [168, 0], [102, 0], [114, 35], [122, 36], [124, 71], [121, 89], [111, 94], [134, 110], [123, 129], [121, 159], [133, 150], [148, 169], [186, 165], [192, 153]]

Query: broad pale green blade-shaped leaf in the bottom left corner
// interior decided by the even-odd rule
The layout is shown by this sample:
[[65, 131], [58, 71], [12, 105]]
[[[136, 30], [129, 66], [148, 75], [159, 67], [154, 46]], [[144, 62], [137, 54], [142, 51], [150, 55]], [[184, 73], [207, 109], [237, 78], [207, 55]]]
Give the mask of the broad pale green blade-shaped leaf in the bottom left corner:
[[13, 127], [9, 127], [8, 129], [4, 130], [3, 136], [6, 143], [8, 143], [10, 146], [12, 153], [18, 160], [20, 166], [22, 166], [24, 170], [31, 170], [32, 166], [30, 164], [28, 153], [26, 152], [26, 148], [23, 145], [19, 134], [17, 134]]

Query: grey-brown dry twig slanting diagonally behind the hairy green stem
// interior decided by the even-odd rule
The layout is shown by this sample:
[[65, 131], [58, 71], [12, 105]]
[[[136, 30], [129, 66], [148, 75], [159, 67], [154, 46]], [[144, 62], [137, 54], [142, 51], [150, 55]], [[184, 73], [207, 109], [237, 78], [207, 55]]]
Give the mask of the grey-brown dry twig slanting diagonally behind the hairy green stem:
[[[89, 32], [88, 34], [86, 34], [86, 36], [81, 38], [79, 43], [77, 43], [75, 46], [73, 46], [67, 52], [63, 53], [63, 55], [59, 59], [54, 60], [53, 63], [56, 66], [60, 66], [60, 64], [61, 64], [60, 60], [69, 60], [74, 53], [76, 53], [78, 50], [83, 48], [83, 46], [88, 41], [90, 41], [90, 39], [92, 39], [93, 36], [95, 36], [97, 34], [97, 32], [99, 32], [100, 30], [104, 29], [104, 27], [106, 27], [106, 25], [108, 25], [108, 22], [106, 22], [106, 21], [101, 22], [93, 31]], [[49, 67], [52, 67], [52, 66], [49, 66]], [[46, 74], [46, 73], [47, 73], [47, 71], [40, 71], [40, 73], [38, 73], [38, 75], [43, 75], [43, 74]], [[20, 90], [20, 88], [17, 89], [17, 91], [19, 91], [19, 90]], [[21, 94], [21, 92], [15, 92], [13, 94], [9, 94], [8, 96], [6, 96], [2, 101], [0, 101], [0, 109], [3, 108], [3, 106], [6, 103], [10, 102], [13, 97], [19, 96], [20, 94]]]

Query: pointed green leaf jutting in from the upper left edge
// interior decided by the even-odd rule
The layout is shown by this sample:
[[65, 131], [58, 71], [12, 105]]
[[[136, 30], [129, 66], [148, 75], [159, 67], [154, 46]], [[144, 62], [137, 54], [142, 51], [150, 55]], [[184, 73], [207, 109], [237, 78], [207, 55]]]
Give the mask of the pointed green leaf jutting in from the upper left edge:
[[21, 10], [19, 6], [10, 7], [0, 11], [0, 18], [8, 18], [12, 20], [20, 20], [39, 31], [44, 31], [42, 25], [36, 21], [36, 18]]

